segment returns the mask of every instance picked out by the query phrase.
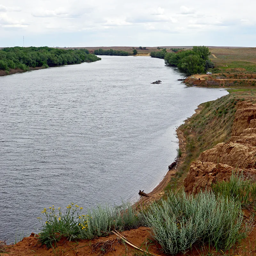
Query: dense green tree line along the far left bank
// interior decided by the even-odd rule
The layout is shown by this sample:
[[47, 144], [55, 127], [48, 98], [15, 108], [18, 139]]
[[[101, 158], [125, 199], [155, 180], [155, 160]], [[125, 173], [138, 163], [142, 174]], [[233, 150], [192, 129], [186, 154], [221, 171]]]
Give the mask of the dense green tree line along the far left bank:
[[86, 49], [64, 50], [44, 47], [10, 47], [0, 50], [0, 69], [29, 70], [30, 67], [54, 67], [101, 60]]

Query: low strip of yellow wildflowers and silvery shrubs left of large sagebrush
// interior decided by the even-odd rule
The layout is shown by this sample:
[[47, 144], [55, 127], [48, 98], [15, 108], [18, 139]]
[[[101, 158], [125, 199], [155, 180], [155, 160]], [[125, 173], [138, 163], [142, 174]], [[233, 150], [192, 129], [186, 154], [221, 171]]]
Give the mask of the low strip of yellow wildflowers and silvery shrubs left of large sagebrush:
[[83, 207], [71, 203], [62, 211], [54, 205], [44, 208], [40, 242], [49, 248], [53, 243], [60, 241], [61, 237], [69, 240], [91, 239], [96, 236], [106, 236], [111, 230], [125, 230], [139, 227], [142, 223], [142, 215], [129, 203], [120, 206], [101, 207], [88, 210], [82, 214]]

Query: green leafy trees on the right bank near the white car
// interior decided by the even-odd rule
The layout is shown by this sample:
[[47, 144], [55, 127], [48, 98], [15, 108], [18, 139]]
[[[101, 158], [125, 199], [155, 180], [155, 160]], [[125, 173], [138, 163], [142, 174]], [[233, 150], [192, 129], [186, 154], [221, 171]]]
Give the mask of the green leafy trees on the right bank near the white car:
[[150, 56], [164, 59], [166, 65], [178, 67], [188, 75], [198, 74], [209, 68], [214, 68], [214, 63], [209, 60], [211, 52], [206, 46], [193, 46], [192, 50], [166, 52], [151, 52]]

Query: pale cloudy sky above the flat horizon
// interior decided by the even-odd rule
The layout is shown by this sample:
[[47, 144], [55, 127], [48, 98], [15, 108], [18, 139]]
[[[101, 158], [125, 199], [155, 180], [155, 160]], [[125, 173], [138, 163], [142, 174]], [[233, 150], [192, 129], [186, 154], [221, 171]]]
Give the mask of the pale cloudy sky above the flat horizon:
[[252, 0], [1, 0], [0, 47], [256, 45]]

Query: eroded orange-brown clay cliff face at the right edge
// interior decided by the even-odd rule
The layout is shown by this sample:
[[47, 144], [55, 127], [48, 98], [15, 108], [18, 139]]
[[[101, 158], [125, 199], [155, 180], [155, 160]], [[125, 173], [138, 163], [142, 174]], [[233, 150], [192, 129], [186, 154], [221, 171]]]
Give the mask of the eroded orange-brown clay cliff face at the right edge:
[[226, 143], [200, 154], [192, 162], [184, 180], [187, 193], [210, 189], [216, 181], [228, 180], [232, 171], [256, 177], [256, 105], [242, 102], [232, 127], [232, 137]]

